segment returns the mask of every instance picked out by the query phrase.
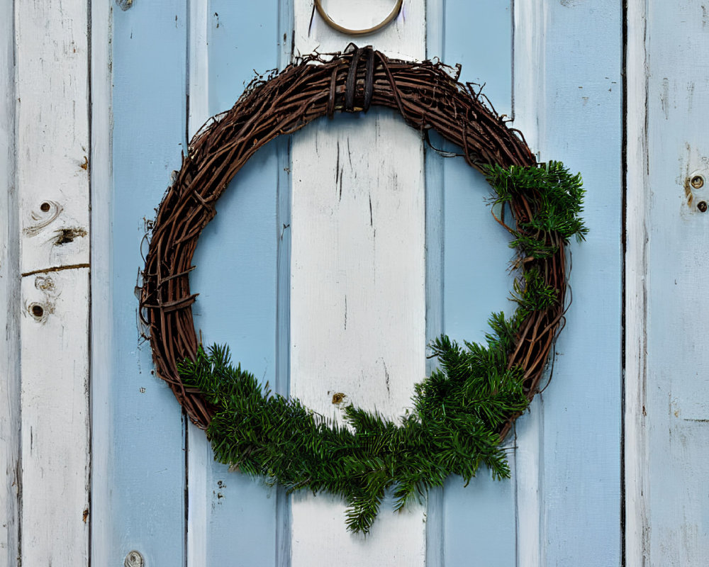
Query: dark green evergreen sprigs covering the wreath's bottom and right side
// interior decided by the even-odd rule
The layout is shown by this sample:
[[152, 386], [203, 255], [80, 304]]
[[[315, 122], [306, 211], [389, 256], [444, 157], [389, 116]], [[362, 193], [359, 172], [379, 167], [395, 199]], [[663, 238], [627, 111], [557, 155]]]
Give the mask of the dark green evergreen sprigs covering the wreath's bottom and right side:
[[[513, 193], [534, 196], [534, 214], [515, 228], [513, 246], [522, 254], [551, 254], [547, 236], [564, 242], [587, 232], [581, 213], [581, 177], [559, 162], [541, 167], [489, 166], [486, 175], [496, 203]], [[553, 240], [551, 240], [553, 242]], [[185, 386], [198, 388], [215, 408], [208, 427], [215, 459], [251, 476], [264, 476], [289, 492], [312, 490], [339, 495], [348, 505], [353, 532], [369, 532], [386, 490], [393, 489], [400, 510], [447, 476], [465, 481], [481, 464], [495, 478], [510, 476], [499, 432], [527, 408], [523, 369], [508, 368], [520, 327], [530, 313], [559, 303], [559, 292], [545, 283], [533, 263], [515, 280], [511, 318], [493, 313], [486, 344], [459, 345], [446, 335], [431, 344], [439, 369], [415, 386], [413, 408], [398, 422], [349, 405], [345, 425], [308, 410], [262, 386], [234, 366], [228, 347], [199, 347], [196, 359], [179, 365]]]

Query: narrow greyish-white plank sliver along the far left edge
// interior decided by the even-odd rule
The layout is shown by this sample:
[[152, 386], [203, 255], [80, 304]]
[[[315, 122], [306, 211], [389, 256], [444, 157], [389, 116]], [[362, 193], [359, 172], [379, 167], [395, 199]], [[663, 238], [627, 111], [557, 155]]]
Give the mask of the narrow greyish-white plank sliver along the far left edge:
[[15, 191], [14, 13], [0, 5], [0, 567], [16, 564], [19, 551], [20, 342], [19, 229]]

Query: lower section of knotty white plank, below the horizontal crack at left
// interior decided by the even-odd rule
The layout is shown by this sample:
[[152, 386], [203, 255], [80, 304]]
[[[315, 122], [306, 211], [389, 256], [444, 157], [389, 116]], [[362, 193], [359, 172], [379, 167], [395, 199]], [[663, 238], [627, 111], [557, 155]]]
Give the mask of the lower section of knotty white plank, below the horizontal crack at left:
[[89, 560], [88, 295], [87, 268], [22, 281], [23, 565]]

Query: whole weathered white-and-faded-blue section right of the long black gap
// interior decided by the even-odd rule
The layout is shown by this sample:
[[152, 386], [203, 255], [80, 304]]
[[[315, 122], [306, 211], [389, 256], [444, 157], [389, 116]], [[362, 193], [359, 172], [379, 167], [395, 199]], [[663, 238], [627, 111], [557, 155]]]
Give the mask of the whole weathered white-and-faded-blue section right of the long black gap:
[[709, 14], [698, 0], [660, 4], [631, 2], [628, 18], [627, 557], [703, 565]]

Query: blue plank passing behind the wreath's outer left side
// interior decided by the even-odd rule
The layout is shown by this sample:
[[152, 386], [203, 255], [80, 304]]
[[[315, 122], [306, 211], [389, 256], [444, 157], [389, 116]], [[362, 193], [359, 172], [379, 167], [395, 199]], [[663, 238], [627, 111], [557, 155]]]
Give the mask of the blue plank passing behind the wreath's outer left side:
[[[111, 500], [93, 503], [113, 539], [107, 556], [128, 551], [148, 565], [182, 565], [184, 423], [167, 385], [152, 374], [150, 345], [140, 339], [135, 278], [143, 267], [145, 219], [180, 164], [185, 133], [186, 3], [136, 3], [113, 11], [113, 362]], [[158, 38], [156, 40], [156, 38]], [[101, 337], [95, 337], [101, 340]]]

